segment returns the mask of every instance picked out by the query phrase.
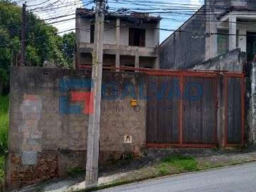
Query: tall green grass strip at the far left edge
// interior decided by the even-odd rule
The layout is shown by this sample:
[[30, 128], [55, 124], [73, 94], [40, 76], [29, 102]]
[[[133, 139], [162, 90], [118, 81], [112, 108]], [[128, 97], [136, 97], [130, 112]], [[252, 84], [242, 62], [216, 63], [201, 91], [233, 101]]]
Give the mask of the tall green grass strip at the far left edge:
[[9, 97], [0, 96], [0, 180], [4, 178], [4, 154], [8, 149]]

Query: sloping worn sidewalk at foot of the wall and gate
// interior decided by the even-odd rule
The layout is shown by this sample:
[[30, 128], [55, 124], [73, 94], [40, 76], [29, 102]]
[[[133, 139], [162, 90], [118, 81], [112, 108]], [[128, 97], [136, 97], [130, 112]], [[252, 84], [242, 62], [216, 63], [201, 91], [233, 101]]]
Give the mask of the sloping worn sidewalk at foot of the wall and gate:
[[[256, 152], [221, 152], [210, 149], [162, 149], [148, 150], [147, 156], [132, 161], [119, 161], [112, 166], [100, 170], [99, 185], [109, 184], [116, 180], [134, 181], [149, 176], [154, 166], [161, 162], [166, 155], [189, 154], [196, 158], [199, 166], [202, 164], [230, 165], [234, 162], [245, 163], [256, 160]], [[152, 173], [152, 172], [151, 172]], [[175, 174], [175, 172], [173, 173]], [[50, 180], [23, 188], [19, 192], [70, 192], [72, 190], [83, 190], [85, 188], [85, 173], [70, 176], [65, 179]], [[111, 190], [110, 188], [109, 190]]]

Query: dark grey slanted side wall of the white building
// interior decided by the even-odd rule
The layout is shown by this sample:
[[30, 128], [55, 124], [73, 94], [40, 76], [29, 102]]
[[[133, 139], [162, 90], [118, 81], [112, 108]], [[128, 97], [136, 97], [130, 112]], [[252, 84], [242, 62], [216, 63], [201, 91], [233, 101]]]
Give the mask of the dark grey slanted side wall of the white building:
[[204, 61], [205, 31], [205, 15], [202, 8], [160, 45], [160, 68], [186, 69]]

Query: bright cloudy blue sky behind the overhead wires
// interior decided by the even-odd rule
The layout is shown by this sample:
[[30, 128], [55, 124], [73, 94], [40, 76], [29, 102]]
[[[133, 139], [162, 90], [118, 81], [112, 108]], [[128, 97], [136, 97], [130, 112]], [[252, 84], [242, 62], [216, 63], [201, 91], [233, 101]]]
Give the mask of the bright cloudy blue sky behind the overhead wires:
[[[148, 3], [151, 1], [151, 3]], [[138, 9], [153, 9], [152, 12], [162, 12], [163, 9], [172, 9], [168, 13], [161, 13], [163, 18], [160, 23], [160, 28], [168, 30], [176, 30], [181, 26], [193, 12], [195, 12], [200, 6], [202, 6], [204, 0], [108, 0], [108, 6], [110, 11], [116, 11], [120, 8], [129, 8], [134, 11]], [[18, 2], [19, 5], [23, 1]], [[75, 28], [75, 10], [78, 7], [91, 8], [94, 4], [88, 4], [90, 0], [27, 0], [28, 10], [31, 10], [37, 14], [41, 19], [46, 19], [48, 23], [58, 22], [66, 20], [65, 22], [59, 22], [52, 24], [58, 28], [59, 32]], [[93, 2], [93, 1], [92, 1]], [[173, 9], [178, 10], [173, 10]], [[190, 14], [180, 14], [182, 11], [190, 11]], [[148, 12], [148, 10], [147, 10]], [[50, 19], [53, 17], [68, 15], [58, 19]], [[152, 15], [159, 15], [155, 13]], [[64, 33], [61, 33], [64, 34]], [[168, 36], [172, 34], [172, 31], [160, 30], [160, 42], [164, 41]]]

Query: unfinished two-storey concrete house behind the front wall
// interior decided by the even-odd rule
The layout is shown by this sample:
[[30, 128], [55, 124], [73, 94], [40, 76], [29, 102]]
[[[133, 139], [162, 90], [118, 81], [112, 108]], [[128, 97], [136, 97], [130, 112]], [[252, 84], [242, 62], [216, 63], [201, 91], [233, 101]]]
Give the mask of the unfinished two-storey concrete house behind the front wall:
[[[93, 10], [76, 10], [76, 68], [92, 65]], [[158, 68], [160, 17], [106, 13], [103, 67]]]

